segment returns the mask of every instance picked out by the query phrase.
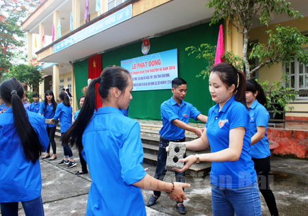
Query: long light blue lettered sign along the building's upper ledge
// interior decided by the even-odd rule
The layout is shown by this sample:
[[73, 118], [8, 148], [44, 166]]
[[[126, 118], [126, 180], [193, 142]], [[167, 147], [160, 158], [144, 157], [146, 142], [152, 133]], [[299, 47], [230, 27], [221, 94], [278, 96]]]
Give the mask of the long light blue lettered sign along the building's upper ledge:
[[105, 31], [106, 29], [109, 29], [114, 25], [118, 25], [119, 23], [127, 21], [130, 18], [131, 5], [128, 5], [122, 10], [119, 10], [118, 12], [115, 12], [114, 14], [107, 16], [106, 18], [103, 18], [101, 21], [98, 21], [97, 23], [88, 26], [86, 27], [86, 29], [82, 29], [81, 31], [75, 33], [73, 36], [70, 36], [62, 40], [61, 42], [58, 42], [57, 44], [53, 45], [53, 53], [57, 53], [62, 49], [66, 49], [68, 46], [71, 46], [77, 42], [80, 42], [81, 40], [94, 36], [95, 34], [101, 31]]

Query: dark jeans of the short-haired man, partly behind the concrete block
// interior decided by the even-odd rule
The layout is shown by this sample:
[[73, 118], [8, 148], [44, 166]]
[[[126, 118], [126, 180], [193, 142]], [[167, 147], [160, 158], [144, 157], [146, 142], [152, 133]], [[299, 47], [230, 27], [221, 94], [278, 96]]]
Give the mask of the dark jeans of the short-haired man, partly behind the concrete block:
[[[183, 139], [179, 139], [177, 142], [185, 141], [185, 137]], [[157, 165], [156, 165], [156, 171], [154, 178], [159, 180], [164, 180], [164, 177], [166, 176], [167, 170], [166, 168], [166, 161], [167, 161], [167, 154], [166, 147], [169, 146], [169, 141], [166, 141], [166, 139], [162, 139], [160, 137], [159, 139], [159, 150], [157, 155]], [[186, 157], [186, 153], [184, 155], [184, 158]], [[185, 183], [185, 172], [175, 172], [175, 180], [179, 183]], [[154, 191], [154, 195], [159, 197], [161, 194], [161, 191]]]

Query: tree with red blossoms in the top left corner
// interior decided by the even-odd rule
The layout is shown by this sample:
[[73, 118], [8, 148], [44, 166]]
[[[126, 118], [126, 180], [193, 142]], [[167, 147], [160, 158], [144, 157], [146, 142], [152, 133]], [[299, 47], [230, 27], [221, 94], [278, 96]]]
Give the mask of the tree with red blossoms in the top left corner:
[[23, 56], [25, 33], [21, 21], [31, 14], [42, 0], [0, 1], [0, 82], [3, 72], [8, 72], [16, 58]]

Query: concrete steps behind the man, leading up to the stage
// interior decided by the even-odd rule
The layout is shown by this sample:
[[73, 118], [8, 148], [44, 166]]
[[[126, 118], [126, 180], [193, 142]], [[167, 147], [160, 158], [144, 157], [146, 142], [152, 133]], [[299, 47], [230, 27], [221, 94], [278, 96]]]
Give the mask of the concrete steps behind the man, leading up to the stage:
[[[138, 120], [140, 122], [140, 137], [142, 141], [143, 151], [144, 151], [144, 163], [148, 163], [151, 165], [157, 164], [157, 154], [159, 149], [159, 130], [162, 128], [162, 123], [160, 121], [150, 121], [150, 120]], [[153, 124], [155, 122], [155, 124]], [[151, 123], [151, 124], [148, 124]], [[60, 125], [57, 125], [57, 129], [55, 131], [55, 137], [61, 138]], [[185, 141], [192, 141], [196, 138], [195, 133], [190, 131], [185, 132]], [[187, 150], [186, 155], [189, 156], [191, 154], [203, 154], [210, 153], [211, 150], [203, 150], [203, 151], [192, 151]], [[211, 162], [201, 162], [194, 163], [186, 172], [186, 175], [193, 177], [201, 177], [204, 174], [207, 174], [211, 170]]]

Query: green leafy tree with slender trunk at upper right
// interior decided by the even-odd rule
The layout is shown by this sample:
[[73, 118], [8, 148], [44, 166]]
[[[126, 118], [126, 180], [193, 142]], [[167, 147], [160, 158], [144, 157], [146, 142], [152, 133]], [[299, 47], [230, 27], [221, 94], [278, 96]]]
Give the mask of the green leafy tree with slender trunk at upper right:
[[[243, 34], [244, 36], [243, 59], [245, 63], [246, 77], [248, 79], [251, 78], [252, 72], [255, 71], [255, 70], [251, 70], [249, 62], [248, 62], [248, 56], [247, 56], [247, 47], [248, 47], [248, 40], [249, 40], [248, 34], [251, 31], [251, 28], [253, 27], [255, 18], [259, 16], [259, 22], [261, 25], [263, 24], [268, 25], [268, 22], [270, 21], [272, 13], [275, 13], [275, 14], [285, 13], [290, 17], [297, 16], [298, 18], [303, 18], [303, 16], [300, 15], [300, 12], [295, 11], [293, 8], [290, 8], [290, 2], [286, 2], [285, 0], [272, 0], [272, 1], [269, 1], [269, 0], [209, 0], [207, 2], [206, 7], [215, 9], [214, 13], [211, 16], [211, 24], [218, 23], [218, 21], [220, 21], [220, 19], [222, 18], [229, 19], [231, 24], [234, 25], [236, 29], [238, 29], [238, 32]], [[290, 33], [288, 33], [287, 31], [290, 31], [290, 30], [295, 31], [294, 29], [287, 29], [283, 27], [276, 27], [275, 29], [277, 33], [280, 32], [281, 35], [284, 34], [288, 36], [290, 36]], [[271, 37], [271, 34], [273, 32], [268, 31], [268, 33], [269, 33], [269, 36]], [[280, 44], [277, 44], [277, 46], [280, 46], [280, 47], [274, 52], [266, 51], [266, 47], [270, 47], [270, 48], [277, 47], [277, 46], [274, 46], [275, 44], [272, 44], [272, 42], [274, 42], [275, 40], [280, 43]], [[256, 46], [259, 46], [259, 48], [255, 46], [255, 51], [262, 50], [261, 52], [257, 53], [256, 56], [263, 57], [262, 62], [260, 63], [257, 69], [267, 64], [271, 65], [274, 62], [287, 61], [287, 59], [284, 59], [284, 57], [288, 58], [288, 56], [285, 54], [287, 54], [287, 52], [293, 48], [292, 44], [290, 42], [287, 42], [287, 40], [279, 40], [279, 38], [276, 38], [275, 40], [270, 40], [268, 44], [257, 44]], [[272, 56], [272, 55], [279, 53], [278, 51], [281, 49], [283, 50], [283, 53], [280, 53], [279, 57]], [[292, 54], [298, 54], [298, 56], [300, 56], [300, 55], [303, 55], [303, 52], [298, 49], [298, 46], [296, 46], [296, 50], [294, 50]], [[305, 55], [307, 55], [307, 52]], [[251, 57], [253, 57], [253, 55], [251, 55]], [[297, 55], [293, 55], [293, 57], [297, 57]], [[268, 59], [270, 61], [268, 61]]]

